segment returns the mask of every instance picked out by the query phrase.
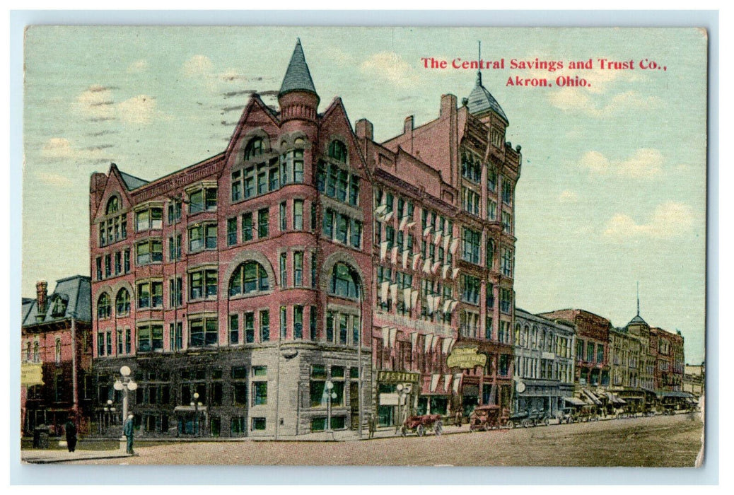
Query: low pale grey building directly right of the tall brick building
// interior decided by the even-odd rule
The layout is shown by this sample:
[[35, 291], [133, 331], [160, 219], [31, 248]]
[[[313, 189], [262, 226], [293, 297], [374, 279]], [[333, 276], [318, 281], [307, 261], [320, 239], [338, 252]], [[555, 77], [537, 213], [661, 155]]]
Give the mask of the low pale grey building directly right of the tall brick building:
[[557, 416], [574, 394], [575, 328], [515, 308], [514, 411]]

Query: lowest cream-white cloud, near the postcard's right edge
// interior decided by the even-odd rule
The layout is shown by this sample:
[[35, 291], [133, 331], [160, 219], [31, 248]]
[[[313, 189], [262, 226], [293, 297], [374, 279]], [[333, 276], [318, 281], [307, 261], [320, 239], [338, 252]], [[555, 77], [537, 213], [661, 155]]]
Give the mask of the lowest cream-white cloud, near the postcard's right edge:
[[606, 224], [604, 235], [623, 241], [633, 237], [670, 239], [694, 225], [693, 211], [685, 203], [668, 201], [655, 207], [647, 223], [636, 223], [629, 215], [615, 214]]

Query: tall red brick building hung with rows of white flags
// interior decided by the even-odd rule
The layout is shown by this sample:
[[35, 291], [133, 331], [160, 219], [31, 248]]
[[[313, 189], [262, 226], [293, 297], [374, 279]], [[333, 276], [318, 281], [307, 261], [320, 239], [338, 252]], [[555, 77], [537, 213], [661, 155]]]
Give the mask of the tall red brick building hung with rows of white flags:
[[[415, 126], [410, 116], [386, 142], [357, 122], [374, 181], [372, 352], [382, 424], [400, 420], [401, 382], [411, 390], [404, 411], [467, 414], [498, 404], [509, 414], [521, 156], [505, 142], [507, 126], [481, 73], [462, 106], [443, 95], [435, 120]], [[479, 361], [452, 360], [459, 348]]]

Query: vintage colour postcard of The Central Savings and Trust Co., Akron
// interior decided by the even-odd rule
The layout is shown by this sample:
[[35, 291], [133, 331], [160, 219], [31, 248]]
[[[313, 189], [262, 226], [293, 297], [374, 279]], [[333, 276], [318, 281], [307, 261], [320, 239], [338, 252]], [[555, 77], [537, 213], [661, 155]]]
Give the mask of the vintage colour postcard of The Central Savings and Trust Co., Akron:
[[700, 466], [707, 47], [29, 26], [23, 462]]

